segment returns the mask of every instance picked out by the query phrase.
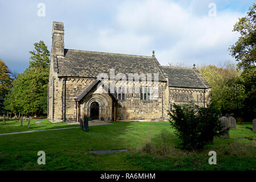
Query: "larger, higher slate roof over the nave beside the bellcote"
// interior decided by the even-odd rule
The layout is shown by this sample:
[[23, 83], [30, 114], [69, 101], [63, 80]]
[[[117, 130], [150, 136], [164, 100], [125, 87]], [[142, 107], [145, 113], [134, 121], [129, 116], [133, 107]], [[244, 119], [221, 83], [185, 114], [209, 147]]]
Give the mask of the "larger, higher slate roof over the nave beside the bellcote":
[[120, 53], [78, 51], [64, 49], [64, 57], [58, 57], [58, 77], [97, 78], [99, 73], [107, 73], [115, 69], [115, 75], [124, 73], [159, 73], [159, 81], [166, 81], [160, 64], [153, 56], [125, 55]]

